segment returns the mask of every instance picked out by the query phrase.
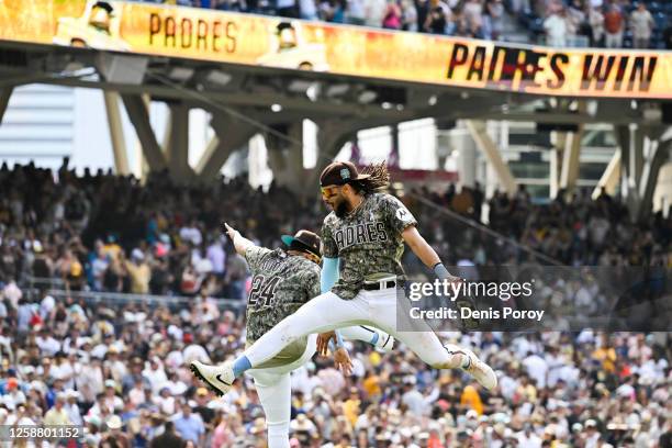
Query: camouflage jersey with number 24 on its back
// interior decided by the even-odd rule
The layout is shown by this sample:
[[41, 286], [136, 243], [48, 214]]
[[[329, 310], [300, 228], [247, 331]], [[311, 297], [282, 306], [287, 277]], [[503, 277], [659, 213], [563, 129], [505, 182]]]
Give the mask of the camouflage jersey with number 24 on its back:
[[282, 249], [249, 247], [253, 273], [247, 299], [247, 339], [257, 340], [305, 302], [320, 294], [320, 266]]

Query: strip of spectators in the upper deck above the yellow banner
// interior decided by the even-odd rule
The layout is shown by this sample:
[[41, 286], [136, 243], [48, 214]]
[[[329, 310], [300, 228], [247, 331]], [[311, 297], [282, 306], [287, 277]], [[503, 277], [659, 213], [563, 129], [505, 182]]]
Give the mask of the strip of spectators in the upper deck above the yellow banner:
[[672, 48], [672, 23], [669, 20], [672, 15], [672, 4], [663, 1], [158, 0], [154, 2], [494, 41], [506, 40], [504, 32], [508, 29], [513, 34], [527, 33], [531, 43], [546, 43], [558, 47]]

